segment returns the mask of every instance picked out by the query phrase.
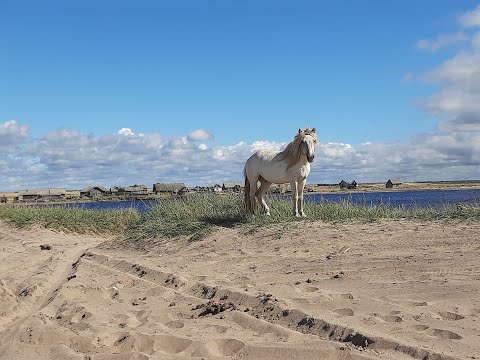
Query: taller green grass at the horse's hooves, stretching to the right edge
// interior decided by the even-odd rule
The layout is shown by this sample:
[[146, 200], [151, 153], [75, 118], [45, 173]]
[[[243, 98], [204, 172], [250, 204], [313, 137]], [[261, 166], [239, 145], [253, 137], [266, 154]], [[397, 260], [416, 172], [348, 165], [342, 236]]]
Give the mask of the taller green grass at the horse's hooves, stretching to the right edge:
[[237, 194], [195, 194], [182, 200], [160, 202], [132, 224], [127, 231], [131, 240], [160, 237], [189, 236], [198, 240], [215, 228], [248, 226], [251, 231], [262, 226], [294, 224], [298, 221], [372, 222], [384, 219], [417, 221], [480, 221], [480, 208], [393, 208], [387, 205], [358, 206], [349, 202], [305, 204], [307, 220], [295, 218], [291, 202], [267, 199], [270, 216], [261, 213], [252, 217], [245, 214], [243, 197]]

